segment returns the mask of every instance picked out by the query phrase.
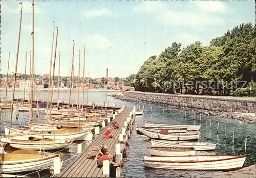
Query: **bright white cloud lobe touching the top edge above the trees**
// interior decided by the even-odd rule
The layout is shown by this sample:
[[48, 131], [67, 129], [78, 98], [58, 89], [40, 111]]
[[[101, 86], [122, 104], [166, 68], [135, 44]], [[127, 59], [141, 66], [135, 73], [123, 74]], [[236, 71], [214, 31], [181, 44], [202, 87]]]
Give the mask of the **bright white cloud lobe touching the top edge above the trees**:
[[193, 1], [202, 11], [227, 12], [227, 6], [220, 1]]

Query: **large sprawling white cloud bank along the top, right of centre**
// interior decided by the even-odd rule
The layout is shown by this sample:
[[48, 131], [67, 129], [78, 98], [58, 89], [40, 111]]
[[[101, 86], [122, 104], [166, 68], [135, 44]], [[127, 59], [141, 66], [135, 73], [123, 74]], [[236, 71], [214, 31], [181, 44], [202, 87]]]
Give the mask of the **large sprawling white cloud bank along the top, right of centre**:
[[208, 12], [226, 12], [226, 5], [221, 2], [194, 2], [197, 8], [191, 10], [170, 10], [162, 2], [147, 1], [134, 7], [134, 11], [154, 13], [156, 19], [165, 25], [173, 26], [223, 26], [225, 20]]

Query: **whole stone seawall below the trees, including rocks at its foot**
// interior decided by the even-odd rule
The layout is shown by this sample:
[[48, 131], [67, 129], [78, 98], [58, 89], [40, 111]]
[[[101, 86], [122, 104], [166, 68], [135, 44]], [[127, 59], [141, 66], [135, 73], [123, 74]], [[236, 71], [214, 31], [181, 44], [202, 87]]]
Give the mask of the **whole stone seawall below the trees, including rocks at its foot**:
[[148, 103], [165, 104], [172, 108], [194, 110], [196, 112], [220, 117], [239, 119], [255, 123], [255, 98], [232, 96], [173, 95], [164, 93], [148, 93], [125, 91], [113, 96], [122, 100], [145, 101]]

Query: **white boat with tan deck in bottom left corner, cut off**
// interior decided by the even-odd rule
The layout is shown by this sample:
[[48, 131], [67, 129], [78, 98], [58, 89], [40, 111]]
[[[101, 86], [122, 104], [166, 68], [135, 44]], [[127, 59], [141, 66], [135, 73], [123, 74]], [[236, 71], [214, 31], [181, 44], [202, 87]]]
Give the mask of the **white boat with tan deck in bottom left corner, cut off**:
[[53, 169], [53, 163], [60, 159], [62, 154], [53, 154], [27, 149], [17, 149], [9, 144], [1, 144], [1, 173], [17, 173], [41, 169]]

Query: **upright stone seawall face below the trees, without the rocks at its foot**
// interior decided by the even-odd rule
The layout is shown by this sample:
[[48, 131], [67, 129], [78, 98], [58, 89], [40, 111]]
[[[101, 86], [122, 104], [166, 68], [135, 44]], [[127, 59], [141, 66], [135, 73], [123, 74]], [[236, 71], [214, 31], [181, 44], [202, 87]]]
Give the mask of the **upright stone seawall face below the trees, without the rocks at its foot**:
[[191, 96], [191, 95], [172, 95], [164, 93], [144, 93], [144, 92], [123, 92], [123, 96], [138, 101], [147, 101], [157, 104], [167, 104], [185, 108], [224, 111], [224, 112], [239, 112], [239, 113], [254, 113], [256, 101], [245, 99], [227, 99], [206, 96]]

